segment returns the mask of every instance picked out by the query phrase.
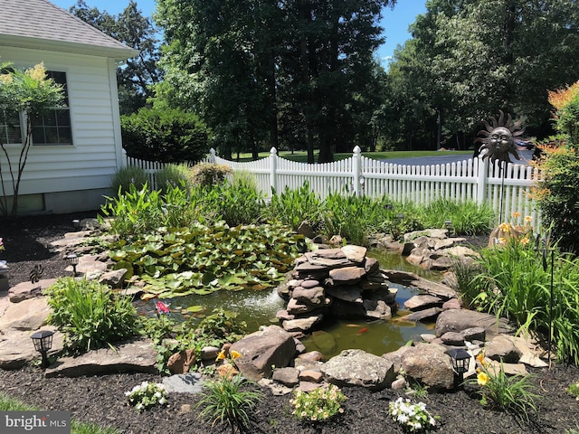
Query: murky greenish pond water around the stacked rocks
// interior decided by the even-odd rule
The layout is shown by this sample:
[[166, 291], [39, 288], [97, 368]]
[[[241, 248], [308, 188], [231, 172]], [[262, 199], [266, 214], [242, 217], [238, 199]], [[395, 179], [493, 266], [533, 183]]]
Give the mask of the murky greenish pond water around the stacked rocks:
[[[439, 281], [441, 273], [427, 271], [409, 264], [402, 256], [384, 250], [369, 250], [368, 256], [378, 259], [382, 269], [399, 269], [410, 271], [422, 278]], [[398, 288], [396, 302], [403, 308], [404, 301], [418, 294], [413, 288], [389, 284]], [[201, 321], [204, 315], [211, 314], [215, 308], [233, 311], [240, 321], [245, 321], [248, 331], [254, 332], [260, 325], [279, 324], [275, 317], [278, 310], [285, 308], [285, 301], [278, 296], [275, 289], [263, 291], [217, 291], [207, 296], [176, 297], [163, 300], [171, 310], [171, 316], [182, 320], [193, 315]], [[203, 306], [196, 314], [184, 313], [186, 307]], [[137, 308], [141, 315], [154, 316], [155, 302], [138, 301]], [[308, 351], [317, 350], [326, 358], [339, 354], [348, 348], [358, 348], [368, 353], [382, 355], [394, 351], [409, 341], [420, 339], [423, 333], [431, 333], [433, 325], [404, 322], [403, 316], [409, 312], [398, 310], [392, 320], [331, 320], [326, 321], [323, 329], [302, 339]]]

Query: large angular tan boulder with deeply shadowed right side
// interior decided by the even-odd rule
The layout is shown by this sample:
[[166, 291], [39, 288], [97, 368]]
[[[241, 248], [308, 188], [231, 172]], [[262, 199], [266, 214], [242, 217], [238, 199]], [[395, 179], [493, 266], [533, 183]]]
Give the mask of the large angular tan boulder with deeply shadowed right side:
[[250, 380], [259, 382], [271, 377], [272, 366], [286, 367], [296, 355], [296, 343], [288, 332], [279, 325], [270, 325], [247, 335], [234, 343], [230, 352], [242, 357], [235, 359], [240, 372]]

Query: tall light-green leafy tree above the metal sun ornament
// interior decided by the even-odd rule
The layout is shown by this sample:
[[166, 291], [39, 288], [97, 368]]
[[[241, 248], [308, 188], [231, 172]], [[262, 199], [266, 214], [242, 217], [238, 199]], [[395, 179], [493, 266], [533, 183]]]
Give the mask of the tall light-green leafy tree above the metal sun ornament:
[[422, 102], [451, 146], [498, 109], [543, 136], [551, 130], [546, 90], [579, 78], [578, 18], [579, 3], [569, 0], [430, 0], [413, 24], [414, 50], [404, 53], [413, 66], [403, 76], [419, 75], [430, 90]]

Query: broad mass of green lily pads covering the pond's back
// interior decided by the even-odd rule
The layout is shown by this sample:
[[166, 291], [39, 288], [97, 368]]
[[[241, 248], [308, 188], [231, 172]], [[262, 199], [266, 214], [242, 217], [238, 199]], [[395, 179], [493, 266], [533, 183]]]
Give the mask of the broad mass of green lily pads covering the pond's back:
[[305, 250], [303, 236], [279, 225], [229, 227], [192, 223], [188, 228], [121, 239], [109, 251], [159, 297], [209, 294], [221, 288], [271, 288]]

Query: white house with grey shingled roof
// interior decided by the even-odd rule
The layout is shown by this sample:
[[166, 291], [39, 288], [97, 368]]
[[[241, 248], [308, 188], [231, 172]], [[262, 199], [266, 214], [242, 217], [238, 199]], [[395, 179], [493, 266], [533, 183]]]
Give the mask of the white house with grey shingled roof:
[[[43, 62], [68, 100], [67, 109], [34, 125], [19, 213], [88, 211], [104, 203], [124, 158], [115, 69], [137, 54], [46, 0], [0, 0], [0, 62], [16, 68]], [[0, 141], [13, 161], [23, 146], [24, 131], [18, 133], [0, 113]], [[0, 164], [6, 176], [2, 154]]]

